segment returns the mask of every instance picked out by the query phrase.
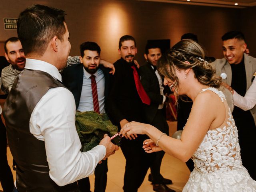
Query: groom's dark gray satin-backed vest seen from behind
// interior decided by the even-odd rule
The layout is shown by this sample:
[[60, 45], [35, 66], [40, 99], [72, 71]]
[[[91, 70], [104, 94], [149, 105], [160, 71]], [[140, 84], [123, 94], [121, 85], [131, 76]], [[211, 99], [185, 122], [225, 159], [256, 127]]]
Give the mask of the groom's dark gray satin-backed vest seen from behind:
[[[7, 137], [16, 162], [18, 192], [79, 192], [76, 182], [58, 186], [49, 176], [44, 141], [29, 130], [30, 116], [50, 88], [64, 87], [46, 72], [24, 69], [6, 99], [3, 115]], [[58, 110], [58, 109], [49, 109]]]

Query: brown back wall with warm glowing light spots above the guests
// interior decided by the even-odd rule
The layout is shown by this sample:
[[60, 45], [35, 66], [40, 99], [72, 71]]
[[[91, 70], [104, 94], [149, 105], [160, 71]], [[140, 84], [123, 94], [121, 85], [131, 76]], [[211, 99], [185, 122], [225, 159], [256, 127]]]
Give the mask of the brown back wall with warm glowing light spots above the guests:
[[[187, 32], [198, 35], [209, 56], [222, 58], [221, 36], [240, 29], [240, 9], [133, 0], [1, 0], [0, 21], [4, 17], [17, 18], [24, 8], [35, 3], [66, 11], [70, 55], [80, 54], [82, 42], [95, 41], [102, 48], [102, 58], [110, 62], [119, 58], [118, 40], [125, 34], [136, 38], [140, 63], [144, 62], [148, 39], [170, 39], [172, 46]], [[2, 23], [0, 41], [11, 36], [16, 36], [16, 31], [4, 30]]]

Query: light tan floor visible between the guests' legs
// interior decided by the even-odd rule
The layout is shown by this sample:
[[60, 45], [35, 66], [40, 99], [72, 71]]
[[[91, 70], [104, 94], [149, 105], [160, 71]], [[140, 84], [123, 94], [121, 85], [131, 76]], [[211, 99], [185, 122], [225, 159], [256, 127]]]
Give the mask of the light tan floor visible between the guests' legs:
[[[176, 131], [176, 122], [168, 122], [170, 127], [170, 135], [172, 135]], [[8, 162], [12, 164], [12, 155], [10, 154], [9, 148], [7, 149]], [[106, 192], [121, 192], [123, 186], [123, 178], [124, 178], [124, 167], [125, 167], [125, 159], [121, 150], [118, 150], [114, 155], [108, 158], [108, 182]], [[14, 179], [15, 179], [15, 172]], [[153, 187], [148, 181], [148, 174], [142, 185], [140, 186], [138, 192], [153, 192]], [[172, 180], [173, 184], [168, 185], [171, 189], [176, 190], [176, 192], [181, 192], [182, 188], [186, 184], [190, 171], [186, 167], [184, 162], [165, 154], [162, 166], [161, 166], [161, 174], [165, 178], [169, 178]], [[91, 190], [94, 188], [94, 175], [90, 176], [91, 182]], [[0, 186], [0, 190], [2, 187]]]

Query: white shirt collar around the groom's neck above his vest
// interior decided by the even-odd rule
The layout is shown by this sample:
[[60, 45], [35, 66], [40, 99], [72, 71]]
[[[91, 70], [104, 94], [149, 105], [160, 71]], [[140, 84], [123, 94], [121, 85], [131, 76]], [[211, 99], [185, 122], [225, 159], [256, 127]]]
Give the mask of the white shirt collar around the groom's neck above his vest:
[[62, 81], [61, 74], [58, 69], [45, 61], [37, 60], [37, 59], [28, 59], [26, 58], [26, 69], [39, 70], [44, 71], [59, 81]]

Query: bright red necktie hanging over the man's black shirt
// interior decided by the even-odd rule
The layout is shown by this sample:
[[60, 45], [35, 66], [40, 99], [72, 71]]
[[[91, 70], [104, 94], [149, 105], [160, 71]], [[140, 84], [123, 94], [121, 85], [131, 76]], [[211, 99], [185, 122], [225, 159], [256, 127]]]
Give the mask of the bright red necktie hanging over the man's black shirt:
[[135, 68], [135, 66], [133, 65], [132, 66], [132, 69], [133, 69], [133, 76], [134, 76], [134, 81], [135, 81], [135, 85], [136, 85], [136, 89], [137, 89], [137, 92], [140, 96], [140, 99], [142, 100], [142, 102], [144, 104], [147, 104], [147, 105], [150, 105], [150, 98], [148, 97], [146, 91], [144, 90], [141, 82], [140, 82], [140, 77], [138, 75], [138, 72]]

